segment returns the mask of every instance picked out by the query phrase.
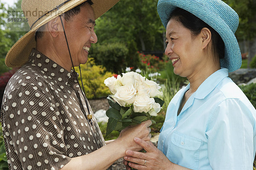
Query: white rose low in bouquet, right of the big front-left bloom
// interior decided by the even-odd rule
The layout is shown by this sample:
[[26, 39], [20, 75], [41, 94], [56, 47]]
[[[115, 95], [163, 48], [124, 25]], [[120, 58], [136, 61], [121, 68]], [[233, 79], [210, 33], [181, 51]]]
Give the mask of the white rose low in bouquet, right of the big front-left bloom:
[[154, 99], [149, 98], [147, 95], [136, 95], [134, 100], [134, 112], [147, 113], [152, 109]]

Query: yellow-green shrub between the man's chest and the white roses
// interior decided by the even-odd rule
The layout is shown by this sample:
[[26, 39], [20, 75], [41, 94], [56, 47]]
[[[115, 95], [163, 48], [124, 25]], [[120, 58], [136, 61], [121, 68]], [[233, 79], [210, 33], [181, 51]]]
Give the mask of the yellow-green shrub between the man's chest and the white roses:
[[[105, 79], [113, 76], [111, 72], [105, 71], [105, 68], [101, 65], [95, 65], [93, 59], [89, 59], [85, 65], [80, 65], [80, 68], [84, 91], [88, 99], [102, 98], [111, 94], [108, 87], [104, 84]], [[76, 71], [79, 72], [79, 68], [76, 68]], [[79, 82], [81, 85], [80, 76]]]

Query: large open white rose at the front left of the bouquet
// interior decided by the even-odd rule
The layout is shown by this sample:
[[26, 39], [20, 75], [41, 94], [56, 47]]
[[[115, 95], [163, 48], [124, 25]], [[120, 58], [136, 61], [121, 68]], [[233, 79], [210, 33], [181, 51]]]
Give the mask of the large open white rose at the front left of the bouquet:
[[133, 104], [135, 99], [136, 89], [132, 84], [120, 86], [113, 99], [121, 106], [126, 107]]

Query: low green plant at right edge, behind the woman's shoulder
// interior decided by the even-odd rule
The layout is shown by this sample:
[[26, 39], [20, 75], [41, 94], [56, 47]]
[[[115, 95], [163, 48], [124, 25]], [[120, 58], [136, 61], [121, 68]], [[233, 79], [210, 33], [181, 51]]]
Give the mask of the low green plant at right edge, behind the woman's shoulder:
[[256, 108], [256, 83], [251, 83], [250, 85], [239, 86], [250, 102]]

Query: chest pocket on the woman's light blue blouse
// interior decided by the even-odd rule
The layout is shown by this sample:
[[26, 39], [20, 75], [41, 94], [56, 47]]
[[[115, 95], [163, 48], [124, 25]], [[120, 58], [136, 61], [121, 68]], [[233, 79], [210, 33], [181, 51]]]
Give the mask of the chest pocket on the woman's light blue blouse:
[[197, 170], [201, 143], [201, 139], [174, 131], [166, 156], [175, 164]]

